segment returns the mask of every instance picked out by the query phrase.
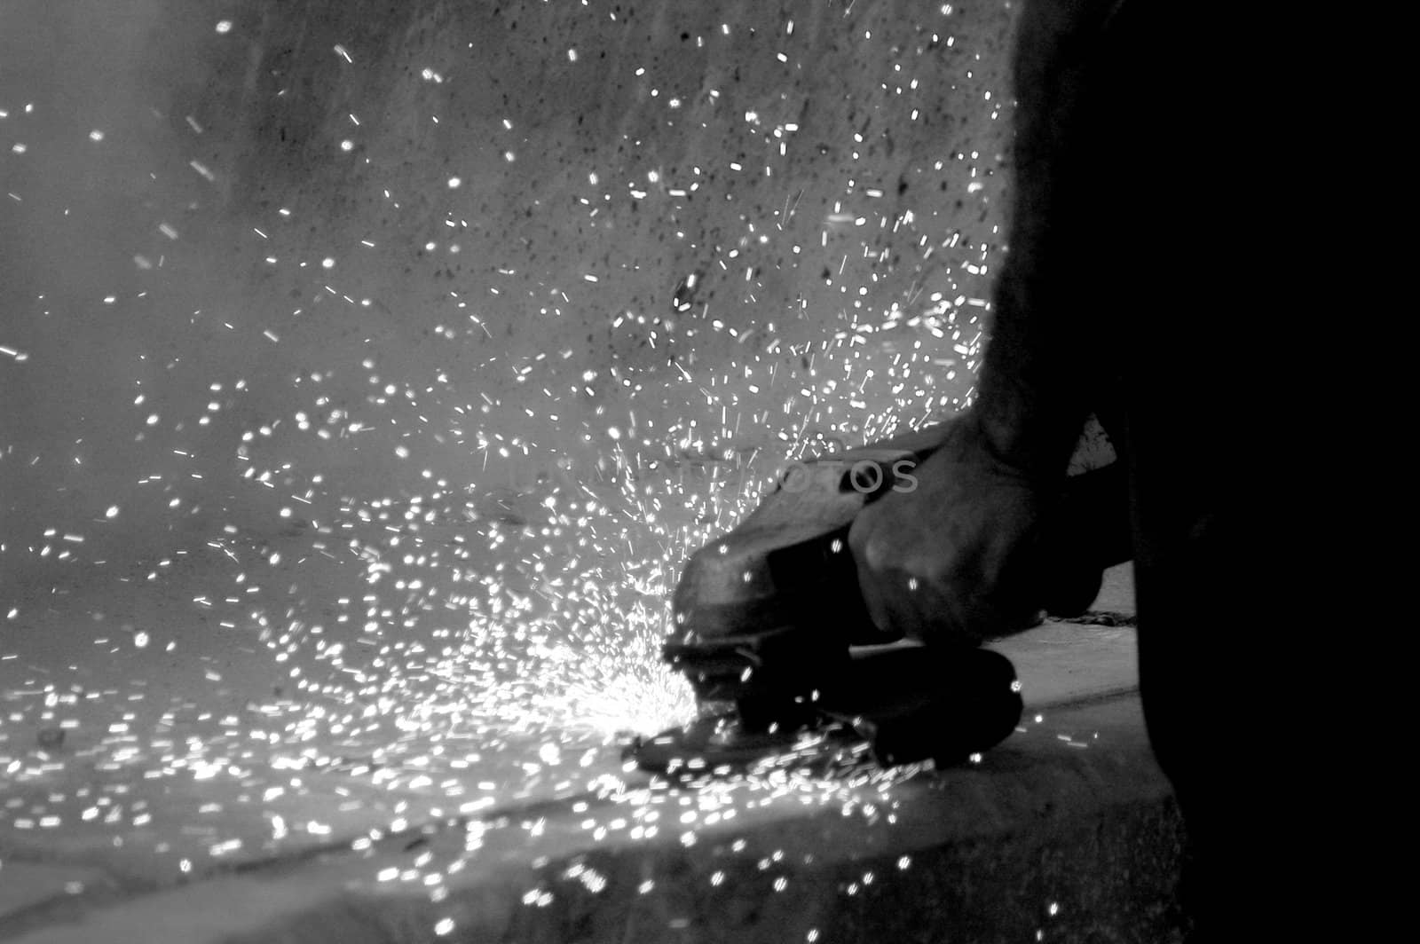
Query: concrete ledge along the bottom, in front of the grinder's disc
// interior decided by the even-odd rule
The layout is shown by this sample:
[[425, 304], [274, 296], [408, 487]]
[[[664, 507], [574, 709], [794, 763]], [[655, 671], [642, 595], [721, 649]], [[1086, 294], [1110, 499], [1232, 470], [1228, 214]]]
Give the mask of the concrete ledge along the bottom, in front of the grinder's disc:
[[[1135, 694], [1032, 714], [974, 767], [835, 791], [730, 789], [710, 805], [720, 816], [700, 816], [692, 845], [680, 826], [632, 840], [625, 829], [598, 838], [589, 825], [648, 811], [676, 822], [707, 808], [701, 794], [588, 795], [121, 903], [54, 903], [23, 921], [28, 933], [11, 923], [0, 937], [649, 944], [1179, 935], [1183, 830]], [[430, 874], [440, 879], [427, 883]], [[439, 901], [430, 900], [435, 887], [446, 893]], [[453, 924], [440, 934], [443, 920]]]

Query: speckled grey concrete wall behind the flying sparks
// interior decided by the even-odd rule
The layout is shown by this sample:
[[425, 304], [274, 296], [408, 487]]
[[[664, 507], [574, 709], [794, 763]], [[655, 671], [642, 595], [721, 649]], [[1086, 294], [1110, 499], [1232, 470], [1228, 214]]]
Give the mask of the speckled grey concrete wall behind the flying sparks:
[[0, 572], [950, 410], [1010, 6], [11, 0]]

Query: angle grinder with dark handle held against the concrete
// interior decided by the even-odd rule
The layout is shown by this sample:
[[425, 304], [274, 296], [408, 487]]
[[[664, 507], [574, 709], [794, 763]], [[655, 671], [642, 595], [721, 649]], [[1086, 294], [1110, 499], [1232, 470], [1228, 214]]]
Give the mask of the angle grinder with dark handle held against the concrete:
[[[868, 616], [848, 547], [853, 518], [941, 441], [941, 427], [798, 463], [737, 528], [686, 562], [662, 654], [686, 676], [700, 718], [628, 755], [653, 771], [748, 768], [832, 732], [883, 765], [951, 764], [1010, 735], [1020, 684], [977, 647], [923, 646]], [[1049, 609], [1083, 612], [1105, 566], [1129, 558], [1122, 463], [1074, 476], [1049, 510]]]

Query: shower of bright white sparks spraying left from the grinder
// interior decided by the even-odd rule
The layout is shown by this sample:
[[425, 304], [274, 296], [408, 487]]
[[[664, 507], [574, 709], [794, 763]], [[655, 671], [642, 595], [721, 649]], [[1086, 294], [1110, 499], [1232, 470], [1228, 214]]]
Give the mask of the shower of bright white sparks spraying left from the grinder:
[[[949, 14], [943, 7], [941, 17]], [[233, 23], [213, 28], [227, 37]], [[686, 556], [751, 511], [785, 463], [916, 427], [971, 396], [1000, 250], [995, 227], [967, 236], [893, 197], [909, 176], [914, 196], [953, 180], [953, 200], [985, 219], [990, 193], [980, 176], [995, 156], [944, 145], [910, 163], [895, 194], [897, 170], [880, 179], [873, 162], [882, 158], [870, 150], [883, 146], [892, 122], [919, 121], [920, 108], [940, 95], [927, 82], [919, 88], [912, 72], [953, 40], [934, 33], [936, 23], [900, 48], [855, 28], [865, 55], [896, 65], [880, 106], [890, 115], [870, 133], [859, 124], [834, 142], [843, 153], [832, 159], [838, 163], [815, 165], [818, 179], [802, 179], [805, 165], [795, 162], [819, 148], [828, 153], [828, 145], [805, 136], [799, 105], [790, 108], [777, 94], [727, 112], [733, 159], [689, 153], [672, 163], [646, 146], [626, 166], [575, 169], [575, 200], [558, 204], [568, 214], [558, 226], [611, 233], [652, 214], [667, 240], [689, 247], [683, 257], [696, 260], [694, 271], [663, 274], [669, 298], [655, 308], [606, 312], [601, 331], [611, 353], [578, 349], [586, 346], [579, 338], [564, 344], [578, 332], [552, 326], [604, 311], [604, 292], [628, 277], [629, 267], [608, 268], [601, 250], [586, 254], [577, 277], [562, 277], [540, 274], [545, 254], [514, 246], [496, 264], [480, 258], [477, 275], [440, 273], [430, 280], [439, 291], [420, 298], [382, 298], [378, 280], [368, 278], [371, 267], [405, 265], [415, 256], [440, 267], [473, 256], [466, 250], [483, 226], [476, 206], [488, 193], [480, 173], [541, 173], [523, 170], [541, 160], [524, 136], [535, 121], [500, 115], [486, 129], [483, 170], [476, 162], [459, 175], [429, 168], [427, 180], [415, 182], [373, 163], [375, 108], [352, 105], [364, 122], [337, 109], [339, 122], [310, 146], [308, 159], [320, 160], [320, 152], [342, 175], [375, 180], [390, 213], [429, 203], [436, 219], [417, 236], [364, 220], [366, 231], [317, 246], [308, 237], [320, 233], [311, 202], [283, 194], [287, 206], [251, 220], [248, 243], [229, 263], [288, 278], [298, 287], [294, 301], [283, 295], [284, 311], [233, 298], [175, 307], [175, 325], [202, 332], [195, 348], [206, 359], [192, 359], [204, 366], [190, 369], [206, 373], [196, 395], [173, 393], [163, 372], [182, 358], [138, 353], [124, 434], [143, 471], [126, 483], [129, 494], [98, 495], [74, 521], [33, 535], [0, 535], [0, 555], [75, 572], [104, 568], [124, 599], [162, 600], [148, 609], [128, 603], [132, 613], [121, 613], [121, 602], [95, 606], [88, 622], [65, 627], [72, 644], [64, 664], [40, 664], [37, 650], [18, 654], [11, 642], [18, 636], [0, 643], [0, 830], [62, 828], [115, 846], [148, 843], [176, 877], [214, 860], [348, 835], [361, 835], [355, 849], [369, 847], [379, 836], [456, 819], [466, 828], [464, 849], [378, 876], [423, 882], [437, 896], [488, 830], [523, 828], [515, 818], [486, 825], [488, 811], [544, 798], [582, 805], [581, 829], [594, 843], [694, 845], [700, 830], [723, 830], [778, 802], [895, 822], [892, 791], [920, 767], [882, 771], [861, 755], [825, 765], [807, 748], [748, 776], [686, 786], [626, 769], [619, 755], [629, 735], [694, 714], [689, 686], [659, 657]], [[848, 35], [846, 20], [843, 30]], [[724, 24], [692, 45], [728, 50], [740, 31]], [[782, 24], [774, 68], [801, 68], [811, 33]], [[557, 68], [572, 75], [594, 68], [591, 48], [589, 41], [565, 47]], [[341, 75], [379, 60], [358, 43], [322, 50], [322, 62]], [[419, 122], [437, 126], [459, 81], [471, 78], [453, 64], [415, 70], [415, 88], [400, 94], [422, 109]], [[682, 87], [677, 74], [649, 62], [625, 72], [638, 101], [672, 129], [724, 122], [717, 109], [740, 97]], [[983, 101], [995, 121], [998, 97], [987, 89]], [[31, 106], [0, 106], [9, 145], [0, 160], [30, 168], [45, 149], [67, 146], [62, 135], [51, 141], [26, 124]], [[175, 125], [193, 141], [207, 133], [190, 116]], [[102, 142], [95, 152], [124, 138], [87, 125], [70, 132]], [[346, 170], [351, 162], [362, 163]], [[180, 170], [180, 186], [199, 189], [183, 194], [197, 197], [133, 223], [122, 288], [104, 287], [87, 302], [109, 318], [152, 317], [145, 307], [155, 302], [132, 280], [158, 285], [182, 278], [170, 271], [190, 271], [172, 260], [197, 251], [187, 233], [202, 227], [179, 230], [168, 220], [192, 219], [189, 209], [231, 176], [190, 153], [172, 165], [155, 169], [155, 179], [178, 180]], [[21, 179], [34, 177], [16, 175]], [[746, 199], [738, 231], [692, 241], [704, 238], [687, 236], [700, 207], [738, 200], [751, 187], [753, 200], [768, 189], [774, 199], [757, 210]], [[900, 288], [889, 294], [883, 287], [895, 270], [910, 274], [893, 275]], [[760, 304], [781, 277], [822, 284], [832, 308]], [[45, 315], [51, 304], [45, 295], [36, 301]], [[538, 335], [534, 348], [498, 348], [510, 332], [490, 314], [496, 304], [520, 305], [527, 324], [538, 325], [520, 328]], [[325, 355], [315, 332], [334, 338], [345, 324], [361, 334], [362, 353]], [[0, 325], [0, 371], [41, 371], [57, 356], [9, 331]], [[403, 331], [426, 335], [419, 358], [386, 355], [395, 345], [382, 338]], [[251, 349], [261, 353], [247, 361], [207, 356], [257, 339], [261, 346]], [[267, 358], [284, 372], [274, 389], [277, 375], [254, 366]], [[21, 456], [0, 443], [0, 474], [27, 463], [45, 470], [105, 463], [95, 444], [102, 437], [74, 439], [57, 457]], [[219, 477], [220, 487], [207, 491], [204, 483]], [[231, 495], [217, 494], [229, 484]], [[98, 547], [114, 547], [106, 534], [152, 521], [172, 532], [170, 551], [124, 562], [99, 556]], [[45, 606], [57, 603], [0, 598], [7, 626]], [[87, 660], [105, 667], [75, 669]], [[189, 679], [187, 690], [165, 688], [179, 677]], [[239, 684], [246, 677], [273, 683], [253, 693]], [[337, 835], [332, 820], [345, 832]], [[527, 829], [531, 842], [540, 828]], [[781, 857], [763, 859], [774, 890], [788, 882]], [[426, 882], [432, 876], [437, 880]], [[594, 869], [564, 877], [591, 893], [605, 886]], [[640, 889], [653, 890], [653, 882]], [[530, 889], [525, 903], [547, 906], [552, 894]], [[456, 928], [450, 917], [432, 926], [437, 935]]]

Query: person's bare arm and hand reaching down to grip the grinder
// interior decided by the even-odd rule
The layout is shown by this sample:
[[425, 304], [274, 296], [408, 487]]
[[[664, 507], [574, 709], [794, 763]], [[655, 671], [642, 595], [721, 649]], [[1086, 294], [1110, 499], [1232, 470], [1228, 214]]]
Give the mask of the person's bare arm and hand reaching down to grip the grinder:
[[[1010, 256], [973, 407], [914, 471], [919, 487], [868, 505], [849, 544], [873, 622], [924, 642], [1025, 629], [1045, 603], [1047, 520], [1088, 415], [1110, 386], [1115, 334], [1091, 160], [1106, 115], [1081, 112], [1100, 0], [1035, 0], [1015, 55]], [[1098, 572], [1095, 575], [1098, 578]]]

